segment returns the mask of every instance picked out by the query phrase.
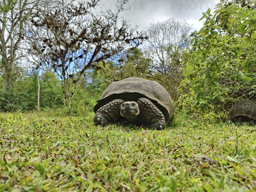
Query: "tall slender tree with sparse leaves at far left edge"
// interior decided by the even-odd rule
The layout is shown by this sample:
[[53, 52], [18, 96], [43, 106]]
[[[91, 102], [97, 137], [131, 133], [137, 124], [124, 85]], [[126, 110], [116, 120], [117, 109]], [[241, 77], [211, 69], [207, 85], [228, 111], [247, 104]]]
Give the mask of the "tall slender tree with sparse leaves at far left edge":
[[23, 40], [26, 22], [29, 19], [35, 1], [1, 0], [0, 1], [0, 51], [3, 89], [12, 86], [15, 61]]

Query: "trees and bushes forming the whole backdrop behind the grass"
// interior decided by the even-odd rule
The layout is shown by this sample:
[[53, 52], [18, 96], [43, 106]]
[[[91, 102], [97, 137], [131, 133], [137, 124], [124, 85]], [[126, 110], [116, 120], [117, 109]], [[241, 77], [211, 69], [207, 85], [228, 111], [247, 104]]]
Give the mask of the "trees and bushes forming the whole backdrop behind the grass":
[[92, 12], [97, 3], [3, 1], [1, 111], [75, 110], [130, 76], [158, 81], [178, 108], [222, 119], [234, 102], [256, 99], [255, 4], [221, 0], [190, 34], [191, 26], [174, 18], [136, 32], [119, 17], [125, 1], [105, 13]]

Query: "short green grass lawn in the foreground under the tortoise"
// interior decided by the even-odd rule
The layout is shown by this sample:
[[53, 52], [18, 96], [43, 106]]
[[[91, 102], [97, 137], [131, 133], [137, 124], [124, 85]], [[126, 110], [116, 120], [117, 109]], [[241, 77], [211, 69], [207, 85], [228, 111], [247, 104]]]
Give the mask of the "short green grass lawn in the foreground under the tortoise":
[[0, 191], [256, 191], [256, 128], [177, 112], [164, 131], [93, 113], [0, 114]]

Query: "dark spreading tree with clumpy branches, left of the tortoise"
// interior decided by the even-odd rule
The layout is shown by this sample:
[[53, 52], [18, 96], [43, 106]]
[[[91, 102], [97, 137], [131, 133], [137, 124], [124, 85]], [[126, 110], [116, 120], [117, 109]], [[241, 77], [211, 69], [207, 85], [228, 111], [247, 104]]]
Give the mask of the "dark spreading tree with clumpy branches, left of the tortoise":
[[48, 59], [46, 64], [62, 81], [65, 106], [70, 106], [86, 70], [116, 59], [126, 47], [137, 47], [145, 39], [119, 17], [126, 1], [119, 1], [115, 13], [100, 14], [92, 11], [98, 2], [46, 1], [33, 12], [27, 36], [32, 40], [30, 53]]

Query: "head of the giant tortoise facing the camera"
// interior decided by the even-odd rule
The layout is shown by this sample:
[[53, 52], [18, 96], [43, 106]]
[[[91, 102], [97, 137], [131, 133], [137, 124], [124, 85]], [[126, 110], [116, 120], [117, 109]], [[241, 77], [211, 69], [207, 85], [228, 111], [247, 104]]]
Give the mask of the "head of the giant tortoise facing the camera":
[[140, 114], [139, 105], [137, 102], [123, 102], [120, 109], [120, 114], [128, 122], [136, 122], [137, 116]]

